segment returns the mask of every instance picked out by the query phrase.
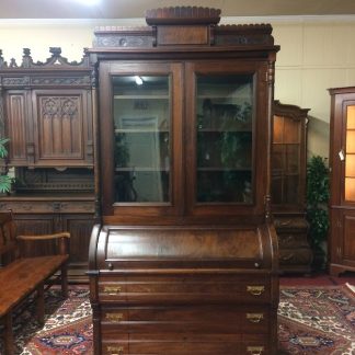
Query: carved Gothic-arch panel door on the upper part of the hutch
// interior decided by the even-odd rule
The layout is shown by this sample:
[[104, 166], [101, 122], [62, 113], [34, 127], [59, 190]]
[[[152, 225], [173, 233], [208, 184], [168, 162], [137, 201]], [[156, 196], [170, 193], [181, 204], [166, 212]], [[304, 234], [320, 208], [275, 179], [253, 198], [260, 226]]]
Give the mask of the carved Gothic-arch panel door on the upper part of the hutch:
[[32, 98], [36, 164], [88, 164], [88, 124], [91, 121], [85, 91], [34, 90]]

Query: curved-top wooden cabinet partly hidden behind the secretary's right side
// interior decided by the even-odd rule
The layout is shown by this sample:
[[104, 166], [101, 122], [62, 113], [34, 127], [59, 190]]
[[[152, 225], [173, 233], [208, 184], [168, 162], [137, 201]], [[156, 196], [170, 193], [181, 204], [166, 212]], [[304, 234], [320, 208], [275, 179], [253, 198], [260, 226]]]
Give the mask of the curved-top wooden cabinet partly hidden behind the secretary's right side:
[[307, 113], [274, 102], [272, 209], [283, 273], [310, 273], [312, 251], [306, 220]]

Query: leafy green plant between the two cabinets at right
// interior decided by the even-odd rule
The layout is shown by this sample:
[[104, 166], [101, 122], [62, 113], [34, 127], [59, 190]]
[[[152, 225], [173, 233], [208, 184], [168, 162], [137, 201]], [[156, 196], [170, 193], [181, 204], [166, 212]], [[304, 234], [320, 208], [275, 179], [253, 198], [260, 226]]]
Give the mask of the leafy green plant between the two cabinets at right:
[[313, 268], [325, 267], [325, 241], [329, 230], [329, 168], [325, 158], [313, 156], [307, 164], [307, 220], [313, 251]]

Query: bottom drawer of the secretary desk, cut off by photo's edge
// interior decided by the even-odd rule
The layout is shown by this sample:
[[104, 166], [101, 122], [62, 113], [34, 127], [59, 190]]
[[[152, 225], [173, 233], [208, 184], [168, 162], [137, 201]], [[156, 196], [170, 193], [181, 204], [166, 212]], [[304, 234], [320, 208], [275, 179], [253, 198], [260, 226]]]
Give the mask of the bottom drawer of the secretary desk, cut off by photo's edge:
[[[102, 354], [117, 355], [266, 355], [267, 336], [259, 340], [243, 334], [138, 334], [127, 342], [102, 342]], [[129, 348], [129, 350], [128, 350]]]

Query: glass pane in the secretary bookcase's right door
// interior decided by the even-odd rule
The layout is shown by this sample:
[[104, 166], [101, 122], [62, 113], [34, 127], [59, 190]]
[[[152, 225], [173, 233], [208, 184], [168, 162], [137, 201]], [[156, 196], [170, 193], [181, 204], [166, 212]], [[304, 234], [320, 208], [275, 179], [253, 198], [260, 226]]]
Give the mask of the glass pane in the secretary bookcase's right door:
[[252, 203], [252, 93], [251, 75], [197, 76], [197, 202]]

